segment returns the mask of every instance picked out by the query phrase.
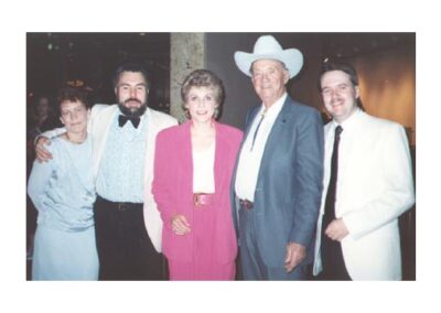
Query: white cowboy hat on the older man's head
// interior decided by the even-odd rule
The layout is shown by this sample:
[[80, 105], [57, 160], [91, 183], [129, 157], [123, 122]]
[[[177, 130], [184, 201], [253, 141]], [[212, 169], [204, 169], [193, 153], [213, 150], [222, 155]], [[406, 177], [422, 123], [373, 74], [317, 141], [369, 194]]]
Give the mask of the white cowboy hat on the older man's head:
[[283, 50], [280, 43], [271, 35], [260, 36], [255, 43], [252, 53], [241, 51], [235, 53], [237, 67], [248, 76], [251, 76], [250, 69], [252, 62], [262, 58], [283, 62], [289, 71], [290, 78], [294, 77], [303, 66], [303, 55], [299, 50]]

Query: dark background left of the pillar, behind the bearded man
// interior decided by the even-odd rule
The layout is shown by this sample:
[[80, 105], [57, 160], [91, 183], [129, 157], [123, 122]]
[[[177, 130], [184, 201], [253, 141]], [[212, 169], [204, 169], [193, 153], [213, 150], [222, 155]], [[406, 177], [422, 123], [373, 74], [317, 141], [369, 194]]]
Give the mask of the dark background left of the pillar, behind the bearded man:
[[170, 33], [28, 33], [28, 109], [39, 95], [54, 97], [67, 83], [90, 88], [93, 104], [114, 104], [112, 75], [139, 62], [151, 76], [150, 105], [170, 105]]

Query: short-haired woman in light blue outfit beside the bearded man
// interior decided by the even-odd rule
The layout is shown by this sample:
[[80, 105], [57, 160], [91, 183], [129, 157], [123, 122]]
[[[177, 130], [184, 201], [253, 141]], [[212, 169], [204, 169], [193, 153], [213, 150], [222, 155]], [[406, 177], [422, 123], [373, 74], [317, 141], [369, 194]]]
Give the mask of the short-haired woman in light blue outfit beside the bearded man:
[[28, 193], [39, 211], [32, 280], [97, 280], [92, 139], [86, 95], [60, 91], [66, 132], [52, 139], [49, 162], [34, 162]]

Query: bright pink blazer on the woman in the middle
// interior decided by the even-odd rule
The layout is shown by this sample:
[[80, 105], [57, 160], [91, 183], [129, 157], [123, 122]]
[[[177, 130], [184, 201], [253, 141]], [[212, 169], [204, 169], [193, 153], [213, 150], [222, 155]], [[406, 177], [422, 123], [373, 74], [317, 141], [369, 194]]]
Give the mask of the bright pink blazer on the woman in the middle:
[[[191, 121], [171, 127], [158, 133], [154, 156], [152, 192], [163, 220], [162, 250], [168, 259], [191, 262], [193, 260], [192, 233], [175, 235], [171, 217], [183, 214], [193, 223], [193, 159]], [[230, 182], [243, 132], [230, 126], [215, 122], [215, 211], [213, 246], [219, 263], [232, 262], [237, 255], [237, 239], [230, 209]]]

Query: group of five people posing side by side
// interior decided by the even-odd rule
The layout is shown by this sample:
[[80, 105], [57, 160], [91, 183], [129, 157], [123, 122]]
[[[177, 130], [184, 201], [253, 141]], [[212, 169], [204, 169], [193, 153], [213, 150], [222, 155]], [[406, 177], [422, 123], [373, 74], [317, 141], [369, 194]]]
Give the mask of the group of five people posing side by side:
[[238, 255], [245, 280], [304, 280], [311, 265], [322, 280], [401, 279], [398, 217], [415, 202], [402, 127], [359, 109], [346, 64], [321, 73], [323, 129], [287, 93], [300, 51], [263, 35], [235, 62], [261, 100], [244, 132], [216, 121], [225, 90], [206, 69], [182, 84], [180, 126], [147, 106], [135, 64], [117, 69], [118, 105], [62, 90], [65, 128], [36, 141], [28, 187], [33, 279], [161, 280], [161, 252], [171, 280], [234, 280]]

